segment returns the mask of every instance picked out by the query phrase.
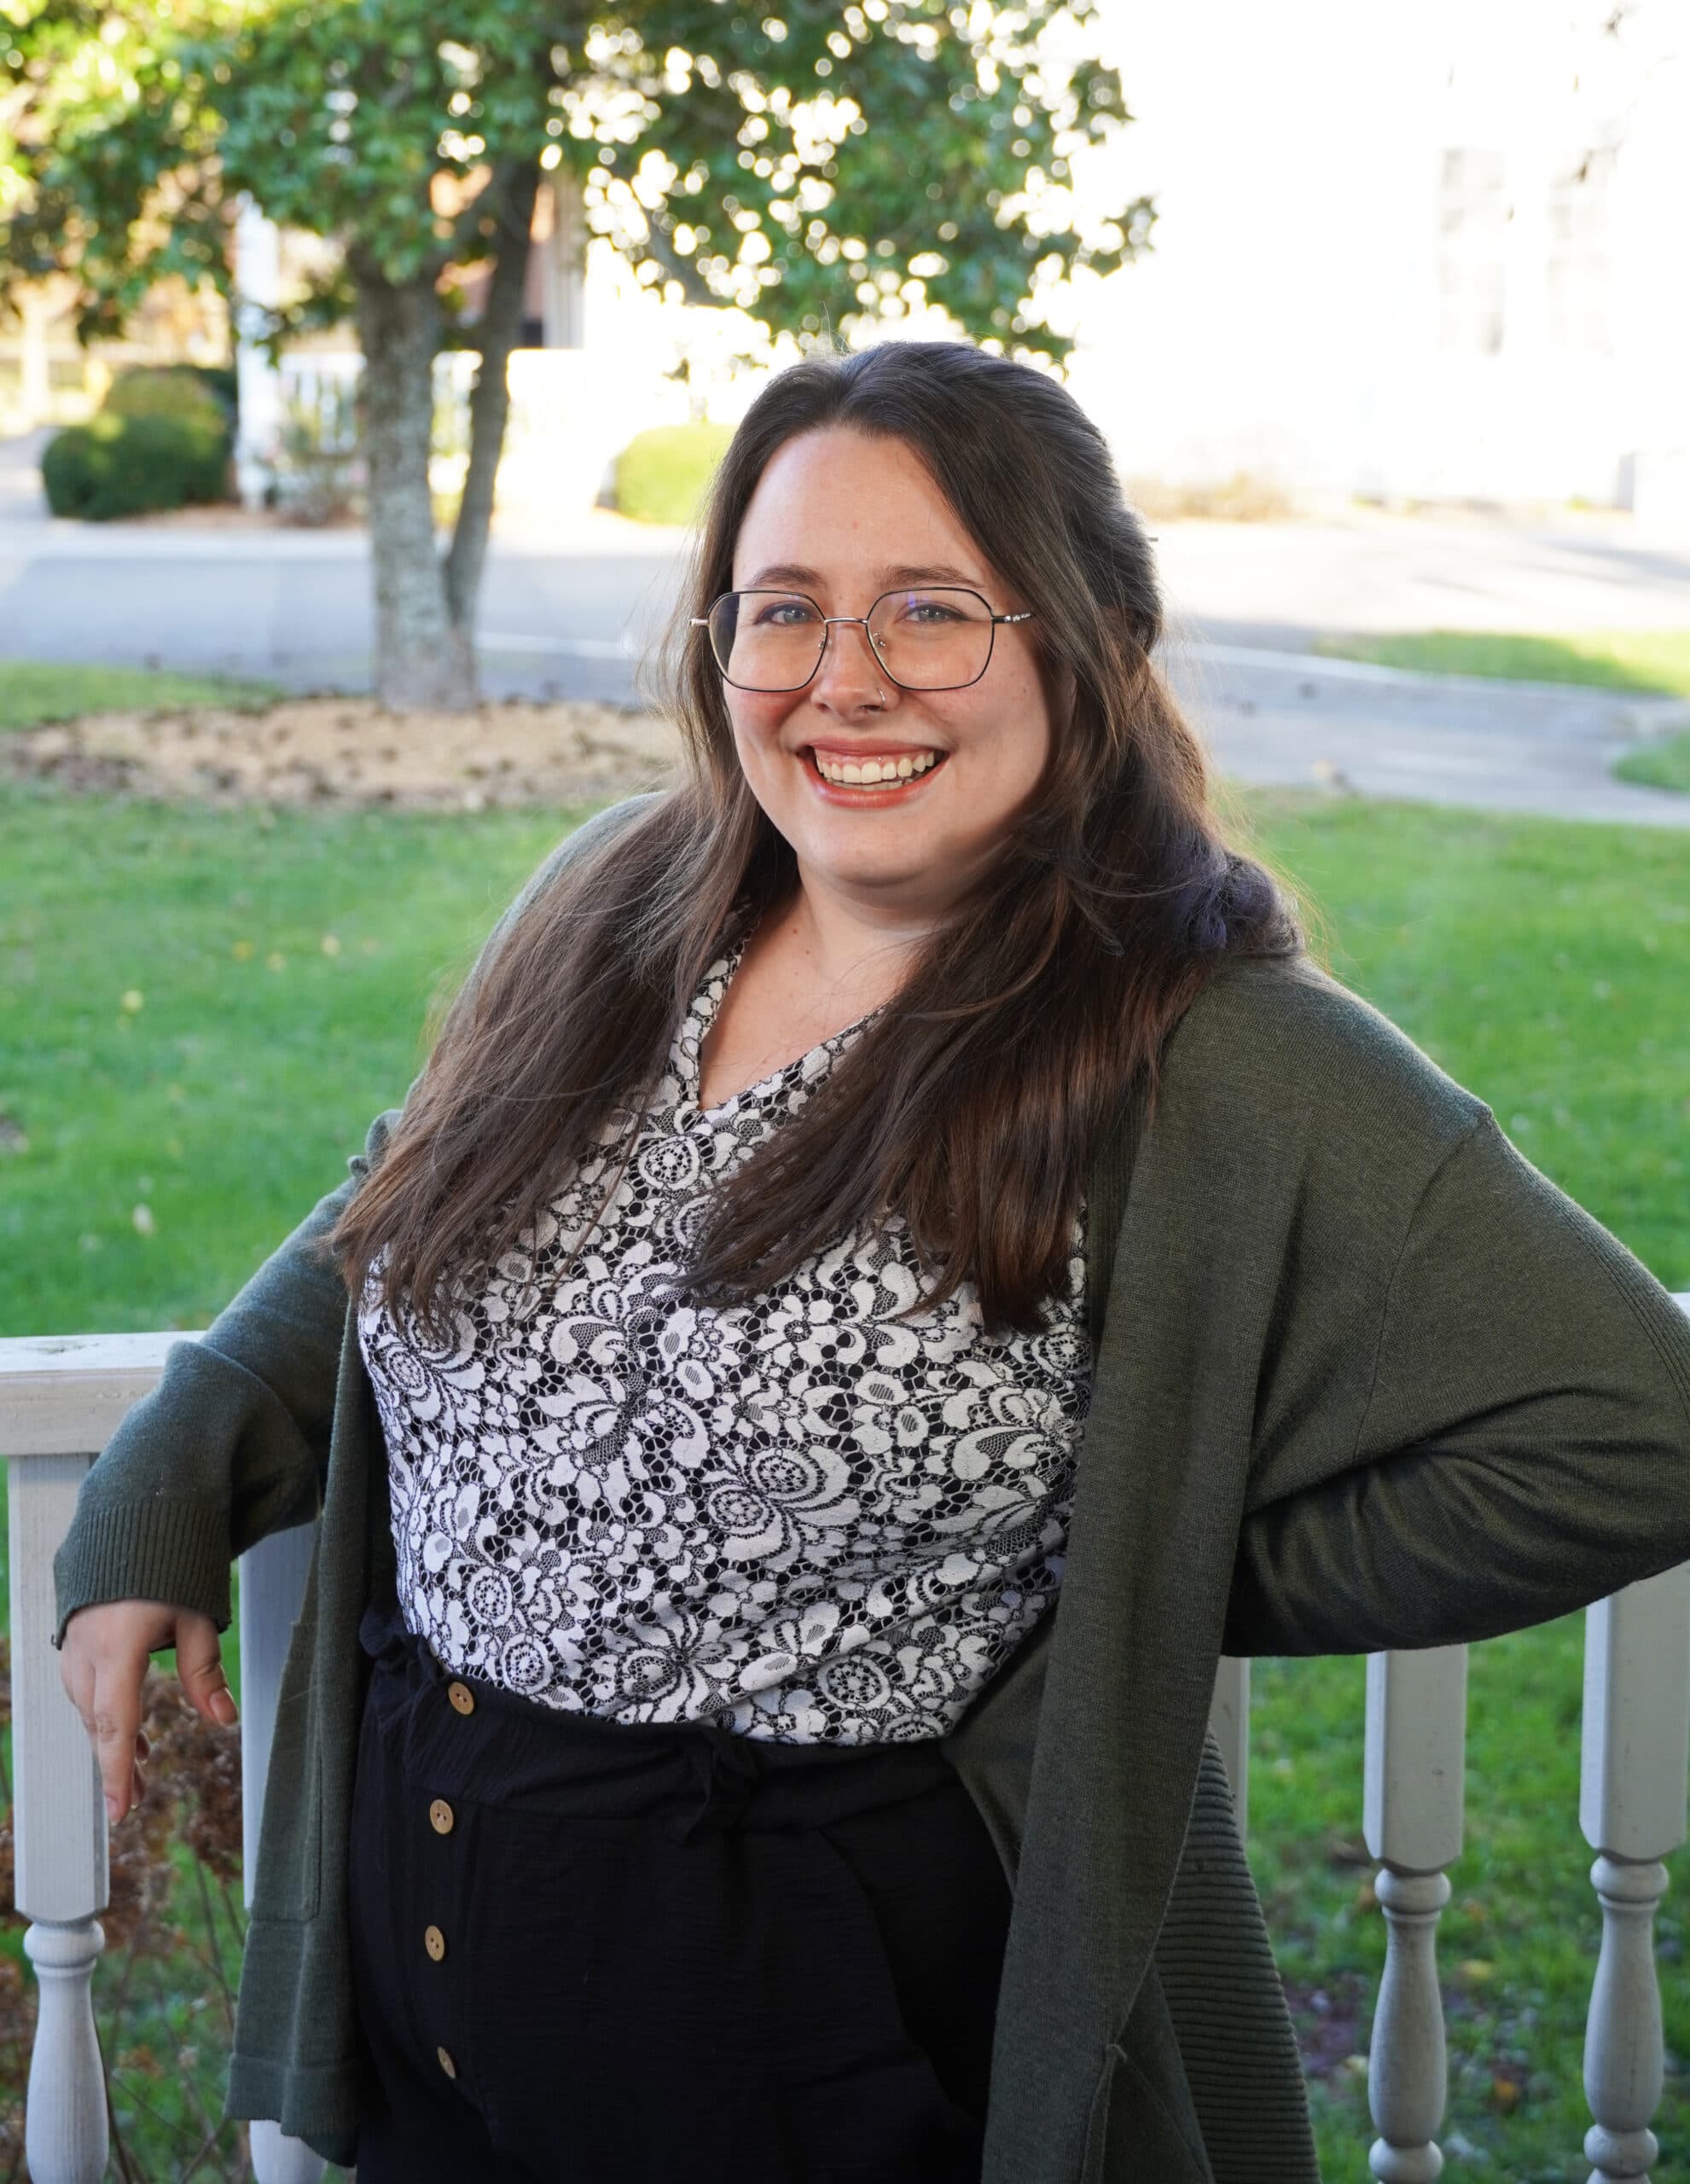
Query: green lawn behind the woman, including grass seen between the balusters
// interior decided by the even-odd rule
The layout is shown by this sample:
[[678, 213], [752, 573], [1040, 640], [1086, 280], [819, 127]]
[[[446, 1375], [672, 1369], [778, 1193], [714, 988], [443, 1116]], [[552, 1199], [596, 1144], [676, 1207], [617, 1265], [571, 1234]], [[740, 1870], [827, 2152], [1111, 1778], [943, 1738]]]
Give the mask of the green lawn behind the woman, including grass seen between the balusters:
[[[1319, 913], [1334, 972], [1690, 1289], [1683, 836], [1290, 791], [1238, 804]], [[430, 996], [579, 817], [212, 812], [0, 786], [0, 1330], [205, 1326], [402, 1099]], [[1491, 2175], [1576, 2184], [1600, 1935], [1576, 1826], [1581, 1627], [1474, 1649], [1467, 1850], [1439, 1939], [1443, 2136], [1487, 2151]], [[1332, 2049], [1310, 2079], [1328, 2184], [1369, 2175], [1365, 2081], [1343, 2064], [1367, 2049], [1384, 1952], [1360, 1752], [1360, 1660], [1255, 1666], [1251, 1863], [1310, 2053], [1314, 2027]], [[1690, 1856], [1668, 1872], [1670, 1972]], [[159, 2053], [181, 2007], [159, 2001]], [[214, 2057], [210, 2022], [203, 2038]], [[1659, 2177], [1690, 2151], [1681, 1977], [1666, 2040], [1686, 2064], [1655, 2118]]]

